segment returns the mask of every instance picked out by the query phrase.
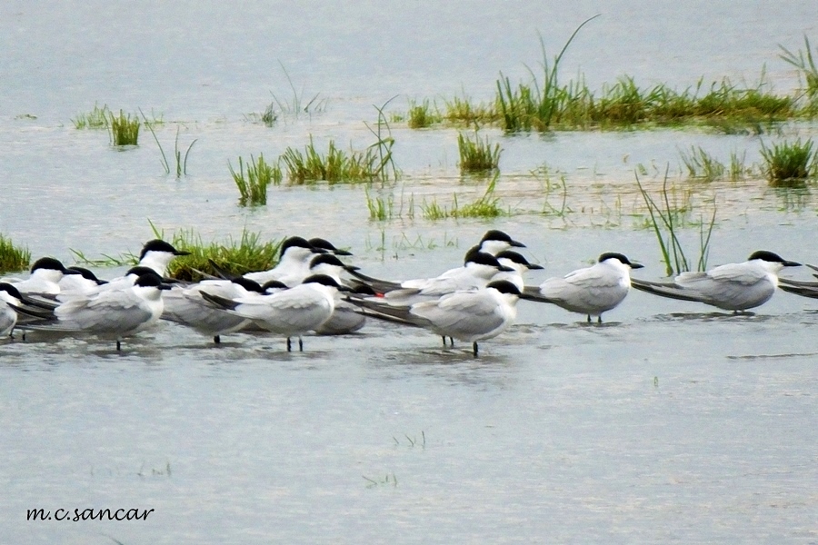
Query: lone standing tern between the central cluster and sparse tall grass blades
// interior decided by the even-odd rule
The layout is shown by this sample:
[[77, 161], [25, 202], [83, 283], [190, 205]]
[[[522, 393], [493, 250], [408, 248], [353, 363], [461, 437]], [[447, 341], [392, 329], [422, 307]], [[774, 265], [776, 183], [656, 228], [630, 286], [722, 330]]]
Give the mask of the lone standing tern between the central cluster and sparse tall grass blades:
[[596, 316], [602, 323], [602, 314], [623, 302], [631, 288], [631, 270], [643, 265], [631, 263], [622, 253], [603, 253], [590, 267], [569, 272], [562, 278], [548, 278], [537, 287], [525, 287], [531, 301], [550, 302], [566, 311]]

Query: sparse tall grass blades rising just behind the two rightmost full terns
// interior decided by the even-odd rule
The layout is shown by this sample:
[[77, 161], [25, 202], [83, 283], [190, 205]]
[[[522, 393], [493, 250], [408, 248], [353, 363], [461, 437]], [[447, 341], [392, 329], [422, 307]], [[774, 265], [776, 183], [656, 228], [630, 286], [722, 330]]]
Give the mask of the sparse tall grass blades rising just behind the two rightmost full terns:
[[[656, 234], [656, 241], [659, 243], [659, 249], [662, 252], [667, 275], [672, 276], [680, 272], [690, 271], [690, 263], [676, 234], [676, 228], [679, 227], [677, 218], [680, 211], [671, 205], [667, 187], [667, 172], [664, 174], [662, 184], [663, 206], [653, 201], [653, 198], [645, 191], [638, 174], [636, 174], [636, 184], [639, 187], [639, 192], [642, 193], [644, 203], [647, 205], [650, 227], [653, 229], [653, 233]], [[713, 217], [706, 230], [704, 223], [700, 223], [698, 271], [704, 271], [707, 268], [707, 256], [710, 253], [710, 237], [715, 225], [715, 215], [716, 208], [713, 205]]]

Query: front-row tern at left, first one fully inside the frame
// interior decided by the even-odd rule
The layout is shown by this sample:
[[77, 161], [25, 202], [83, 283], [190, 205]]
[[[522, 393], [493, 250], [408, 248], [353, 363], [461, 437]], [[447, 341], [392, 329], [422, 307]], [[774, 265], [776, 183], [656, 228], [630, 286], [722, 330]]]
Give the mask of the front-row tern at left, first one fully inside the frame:
[[61, 302], [50, 312], [31, 312], [23, 307], [15, 309], [41, 319], [40, 322], [26, 323], [26, 329], [113, 338], [119, 351], [123, 338], [141, 332], [159, 320], [163, 310], [161, 290], [168, 288], [162, 278], [151, 271], [140, 275], [130, 287], [77, 295]]

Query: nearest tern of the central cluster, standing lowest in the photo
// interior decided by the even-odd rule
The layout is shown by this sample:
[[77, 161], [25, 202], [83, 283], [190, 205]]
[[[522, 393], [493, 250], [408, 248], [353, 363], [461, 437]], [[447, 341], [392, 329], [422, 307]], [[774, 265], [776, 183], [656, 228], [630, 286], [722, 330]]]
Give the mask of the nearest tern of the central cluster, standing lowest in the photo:
[[493, 339], [514, 323], [516, 303], [522, 296], [513, 282], [489, 282], [483, 288], [448, 293], [434, 301], [394, 306], [374, 299], [352, 299], [368, 311], [367, 316], [388, 322], [423, 327], [441, 337], [472, 343], [474, 357], [478, 341]]

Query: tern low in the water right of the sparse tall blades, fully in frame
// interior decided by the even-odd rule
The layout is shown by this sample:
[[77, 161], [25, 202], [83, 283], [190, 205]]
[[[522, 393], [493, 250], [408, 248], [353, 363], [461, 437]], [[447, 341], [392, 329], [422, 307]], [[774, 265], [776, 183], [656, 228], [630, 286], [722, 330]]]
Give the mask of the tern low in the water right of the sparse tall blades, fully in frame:
[[632, 279], [642, 292], [683, 301], [703, 302], [725, 311], [744, 312], [770, 300], [783, 267], [801, 263], [786, 261], [776, 253], [754, 252], [743, 263], [719, 265], [707, 272], [682, 272], [673, 282]]

